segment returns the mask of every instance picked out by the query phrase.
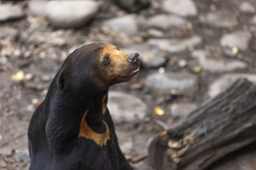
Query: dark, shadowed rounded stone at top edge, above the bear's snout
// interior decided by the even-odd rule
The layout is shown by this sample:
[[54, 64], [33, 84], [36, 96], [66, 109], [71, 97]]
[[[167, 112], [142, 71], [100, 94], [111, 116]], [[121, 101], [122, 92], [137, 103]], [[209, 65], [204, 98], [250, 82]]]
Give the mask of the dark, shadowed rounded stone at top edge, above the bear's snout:
[[118, 5], [129, 12], [138, 12], [147, 8], [150, 4], [148, 0], [115, 0]]

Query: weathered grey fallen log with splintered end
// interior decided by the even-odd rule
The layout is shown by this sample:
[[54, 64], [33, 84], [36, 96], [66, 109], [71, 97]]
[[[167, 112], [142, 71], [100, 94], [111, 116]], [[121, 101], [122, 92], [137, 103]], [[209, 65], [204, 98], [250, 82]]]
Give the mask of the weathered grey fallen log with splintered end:
[[256, 87], [237, 80], [222, 94], [152, 139], [156, 169], [200, 170], [256, 141]]

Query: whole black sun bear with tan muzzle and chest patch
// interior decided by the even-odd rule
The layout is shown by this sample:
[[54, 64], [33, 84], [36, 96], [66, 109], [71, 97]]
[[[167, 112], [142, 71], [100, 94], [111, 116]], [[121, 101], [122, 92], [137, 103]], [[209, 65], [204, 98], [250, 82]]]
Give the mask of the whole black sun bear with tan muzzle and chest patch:
[[138, 53], [105, 43], [68, 55], [29, 123], [29, 169], [132, 169], [107, 103], [109, 87], [139, 70]]

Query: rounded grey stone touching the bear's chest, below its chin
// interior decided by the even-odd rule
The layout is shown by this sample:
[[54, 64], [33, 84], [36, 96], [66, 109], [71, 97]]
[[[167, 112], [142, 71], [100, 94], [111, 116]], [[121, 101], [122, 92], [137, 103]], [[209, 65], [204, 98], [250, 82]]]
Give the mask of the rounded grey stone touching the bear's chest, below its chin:
[[143, 121], [147, 104], [140, 98], [124, 92], [109, 91], [108, 108], [115, 123]]

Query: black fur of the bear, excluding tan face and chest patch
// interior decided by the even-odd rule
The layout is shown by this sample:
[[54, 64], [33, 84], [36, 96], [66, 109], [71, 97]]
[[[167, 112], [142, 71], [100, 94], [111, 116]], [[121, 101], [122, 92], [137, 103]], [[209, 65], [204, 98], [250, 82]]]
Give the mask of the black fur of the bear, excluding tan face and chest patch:
[[[102, 115], [100, 89], [93, 77], [95, 57], [101, 43], [86, 45], [71, 53], [56, 74], [44, 102], [36, 109], [28, 129], [30, 170], [39, 169], [132, 169], [121, 152], [108, 108]], [[108, 99], [105, 99], [107, 103]], [[83, 115], [97, 133], [106, 131], [106, 145], [78, 138]]]

